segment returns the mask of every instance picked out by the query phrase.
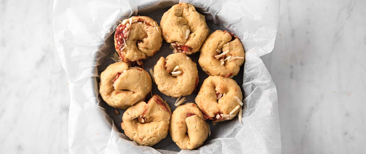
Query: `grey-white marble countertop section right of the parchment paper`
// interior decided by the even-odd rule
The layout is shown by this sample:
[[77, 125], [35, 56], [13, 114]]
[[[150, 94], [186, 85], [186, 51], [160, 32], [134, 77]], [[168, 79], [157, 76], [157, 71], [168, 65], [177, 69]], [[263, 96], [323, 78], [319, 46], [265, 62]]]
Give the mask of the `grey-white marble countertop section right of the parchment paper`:
[[366, 153], [366, 1], [282, 0], [275, 49], [283, 153]]

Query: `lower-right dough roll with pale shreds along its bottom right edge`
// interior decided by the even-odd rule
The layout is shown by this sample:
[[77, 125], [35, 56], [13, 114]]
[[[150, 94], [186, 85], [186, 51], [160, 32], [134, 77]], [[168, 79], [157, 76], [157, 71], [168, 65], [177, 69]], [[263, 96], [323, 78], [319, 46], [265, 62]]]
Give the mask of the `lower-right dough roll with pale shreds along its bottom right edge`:
[[235, 80], [209, 76], [203, 81], [195, 102], [214, 123], [231, 120], [242, 108], [242, 91]]

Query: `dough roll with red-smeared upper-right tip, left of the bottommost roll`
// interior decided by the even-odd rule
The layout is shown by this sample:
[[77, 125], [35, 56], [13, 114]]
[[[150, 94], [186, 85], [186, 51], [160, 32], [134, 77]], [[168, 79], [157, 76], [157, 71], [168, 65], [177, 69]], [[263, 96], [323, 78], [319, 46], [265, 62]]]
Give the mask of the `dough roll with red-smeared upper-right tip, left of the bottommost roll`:
[[140, 101], [123, 113], [121, 127], [124, 134], [139, 145], [153, 146], [168, 135], [172, 115], [169, 105], [154, 95], [149, 101]]

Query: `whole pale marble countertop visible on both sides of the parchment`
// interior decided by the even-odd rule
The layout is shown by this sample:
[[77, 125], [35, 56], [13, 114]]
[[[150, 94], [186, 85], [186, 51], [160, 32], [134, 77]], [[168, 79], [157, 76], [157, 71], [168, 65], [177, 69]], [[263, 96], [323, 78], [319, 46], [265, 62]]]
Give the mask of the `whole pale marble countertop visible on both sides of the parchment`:
[[[366, 152], [365, 0], [282, 0], [275, 49], [283, 153]], [[68, 78], [52, 1], [0, 2], [0, 149], [67, 153]]]

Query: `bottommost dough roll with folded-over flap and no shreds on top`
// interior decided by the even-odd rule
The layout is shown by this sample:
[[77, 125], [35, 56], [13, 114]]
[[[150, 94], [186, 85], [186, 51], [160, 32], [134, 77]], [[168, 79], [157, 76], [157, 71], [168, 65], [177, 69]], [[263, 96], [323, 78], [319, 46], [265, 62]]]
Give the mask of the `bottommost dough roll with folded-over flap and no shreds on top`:
[[202, 146], [209, 134], [209, 125], [202, 112], [193, 103], [178, 106], [170, 119], [170, 135], [180, 149]]

